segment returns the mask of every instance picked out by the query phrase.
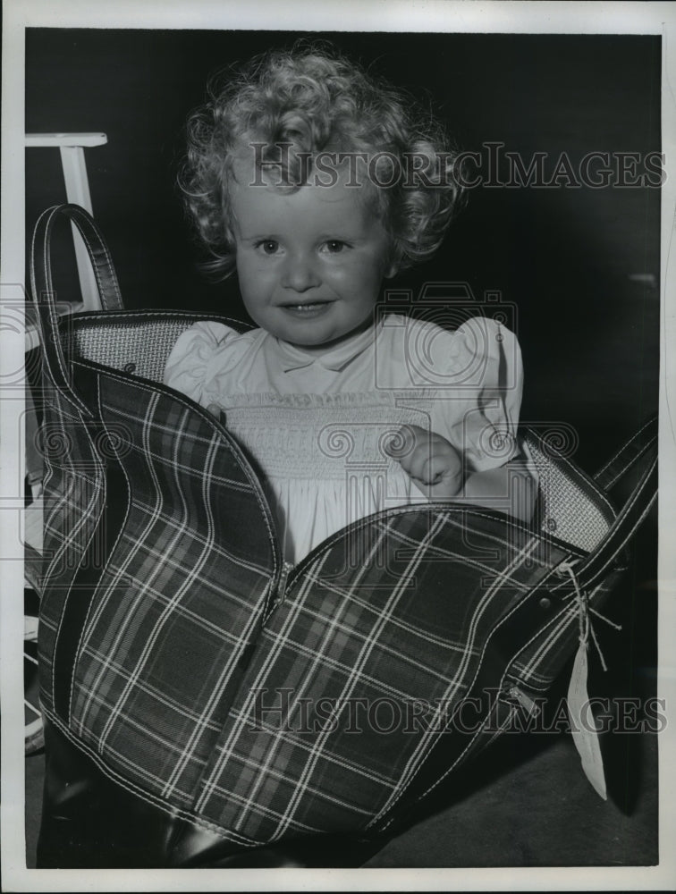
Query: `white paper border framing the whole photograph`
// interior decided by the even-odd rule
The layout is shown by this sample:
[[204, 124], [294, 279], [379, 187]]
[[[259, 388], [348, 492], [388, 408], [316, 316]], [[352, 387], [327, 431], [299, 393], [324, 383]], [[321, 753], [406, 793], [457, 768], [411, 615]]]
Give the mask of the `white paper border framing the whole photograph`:
[[[5, 0], [2, 79], [2, 275], [0, 300], [16, 304], [24, 280], [24, 31], [42, 28], [136, 28], [163, 30], [359, 30], [493, 33], [656, 34], [663, 40], [663, 152], [666, 181], [662, 193], [661, 373], [660, 373], [660, 554], [658, 694], [676, 703], [676, 267], [672, 257], [676, 226], [676, 11], [669, 3], [454, 2], [454, 0]], [[359, 25], [359, 28], [357, 28]], [[17, 292], [17, 289], [20, 291]], [[21, 325], [0, 318], [0, 384], [21, 370]], [[21, 401], [3, 401], [0, 444], [13, 443]], [[17, 541], [20, 503], [13, 483], [22, 480], [23, 458], [3, 451], [0, 463], [0, 545], [4, 557], [0, 586], [0, 697], [2, 698], [2, 873], [4, 890], [671, 890], [676, 879], [672, 842], [676, 840], [672, 770], [674, 730], [660, 736], [660, 855], [655, 867], [537, 869], [392, 870], [182, 870], [91, 871], [29, 870], [25, 863], [23, 705], [21, 644], [23, 618], [21, 542]], [[21, 540], [21, 538], [20, 538]], [[672, 713], [670, 713], [672, 716]]]

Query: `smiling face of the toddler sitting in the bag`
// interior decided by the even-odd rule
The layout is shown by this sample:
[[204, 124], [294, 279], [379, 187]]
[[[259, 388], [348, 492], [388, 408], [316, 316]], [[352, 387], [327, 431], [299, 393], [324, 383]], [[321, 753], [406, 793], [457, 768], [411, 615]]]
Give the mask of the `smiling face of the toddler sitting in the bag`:
[[303, 348], [327, 346], [371, 316], [390, 239], [364, 188], [308, 184], [291, 194], [231, 183], [241, 296], [267, 332]]

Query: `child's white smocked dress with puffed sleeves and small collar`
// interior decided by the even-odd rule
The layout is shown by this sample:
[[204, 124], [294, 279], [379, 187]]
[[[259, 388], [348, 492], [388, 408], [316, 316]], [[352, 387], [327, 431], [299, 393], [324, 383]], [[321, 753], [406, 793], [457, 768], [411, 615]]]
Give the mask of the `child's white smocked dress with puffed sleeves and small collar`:
[[179, 337], [165, 383], [223, 409], [263, 477], [284, 558], [297, 562], [372, 512], [427, 503], [391, 455], [401, 426], [444, 436], [466, 474], [510, 460], [522, 367], [514, 335], [485, 317], [449, 332], [385, 316], [324, 352], [205, 322]]

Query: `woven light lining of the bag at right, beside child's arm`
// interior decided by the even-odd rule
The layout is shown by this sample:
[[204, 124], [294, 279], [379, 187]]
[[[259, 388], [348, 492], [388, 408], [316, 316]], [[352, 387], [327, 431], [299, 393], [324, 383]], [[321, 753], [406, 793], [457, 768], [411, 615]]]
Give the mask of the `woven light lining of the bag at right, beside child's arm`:
[[591, 552], [613, 521], [610, 504], [590, 480], [557, 458], [545, 443], [531, 438], [527, 443], [539, 476], [542, 529]]

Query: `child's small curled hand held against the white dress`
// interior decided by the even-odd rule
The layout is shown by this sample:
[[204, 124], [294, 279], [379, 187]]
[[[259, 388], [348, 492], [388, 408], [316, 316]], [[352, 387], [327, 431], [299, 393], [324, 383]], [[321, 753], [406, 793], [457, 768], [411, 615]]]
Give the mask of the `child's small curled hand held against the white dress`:
[[461, 492], [462, 460], [441, 434], [419, 426], [402, 426], [386, 451], [409, 475], [421, 493], [432, 499]]

